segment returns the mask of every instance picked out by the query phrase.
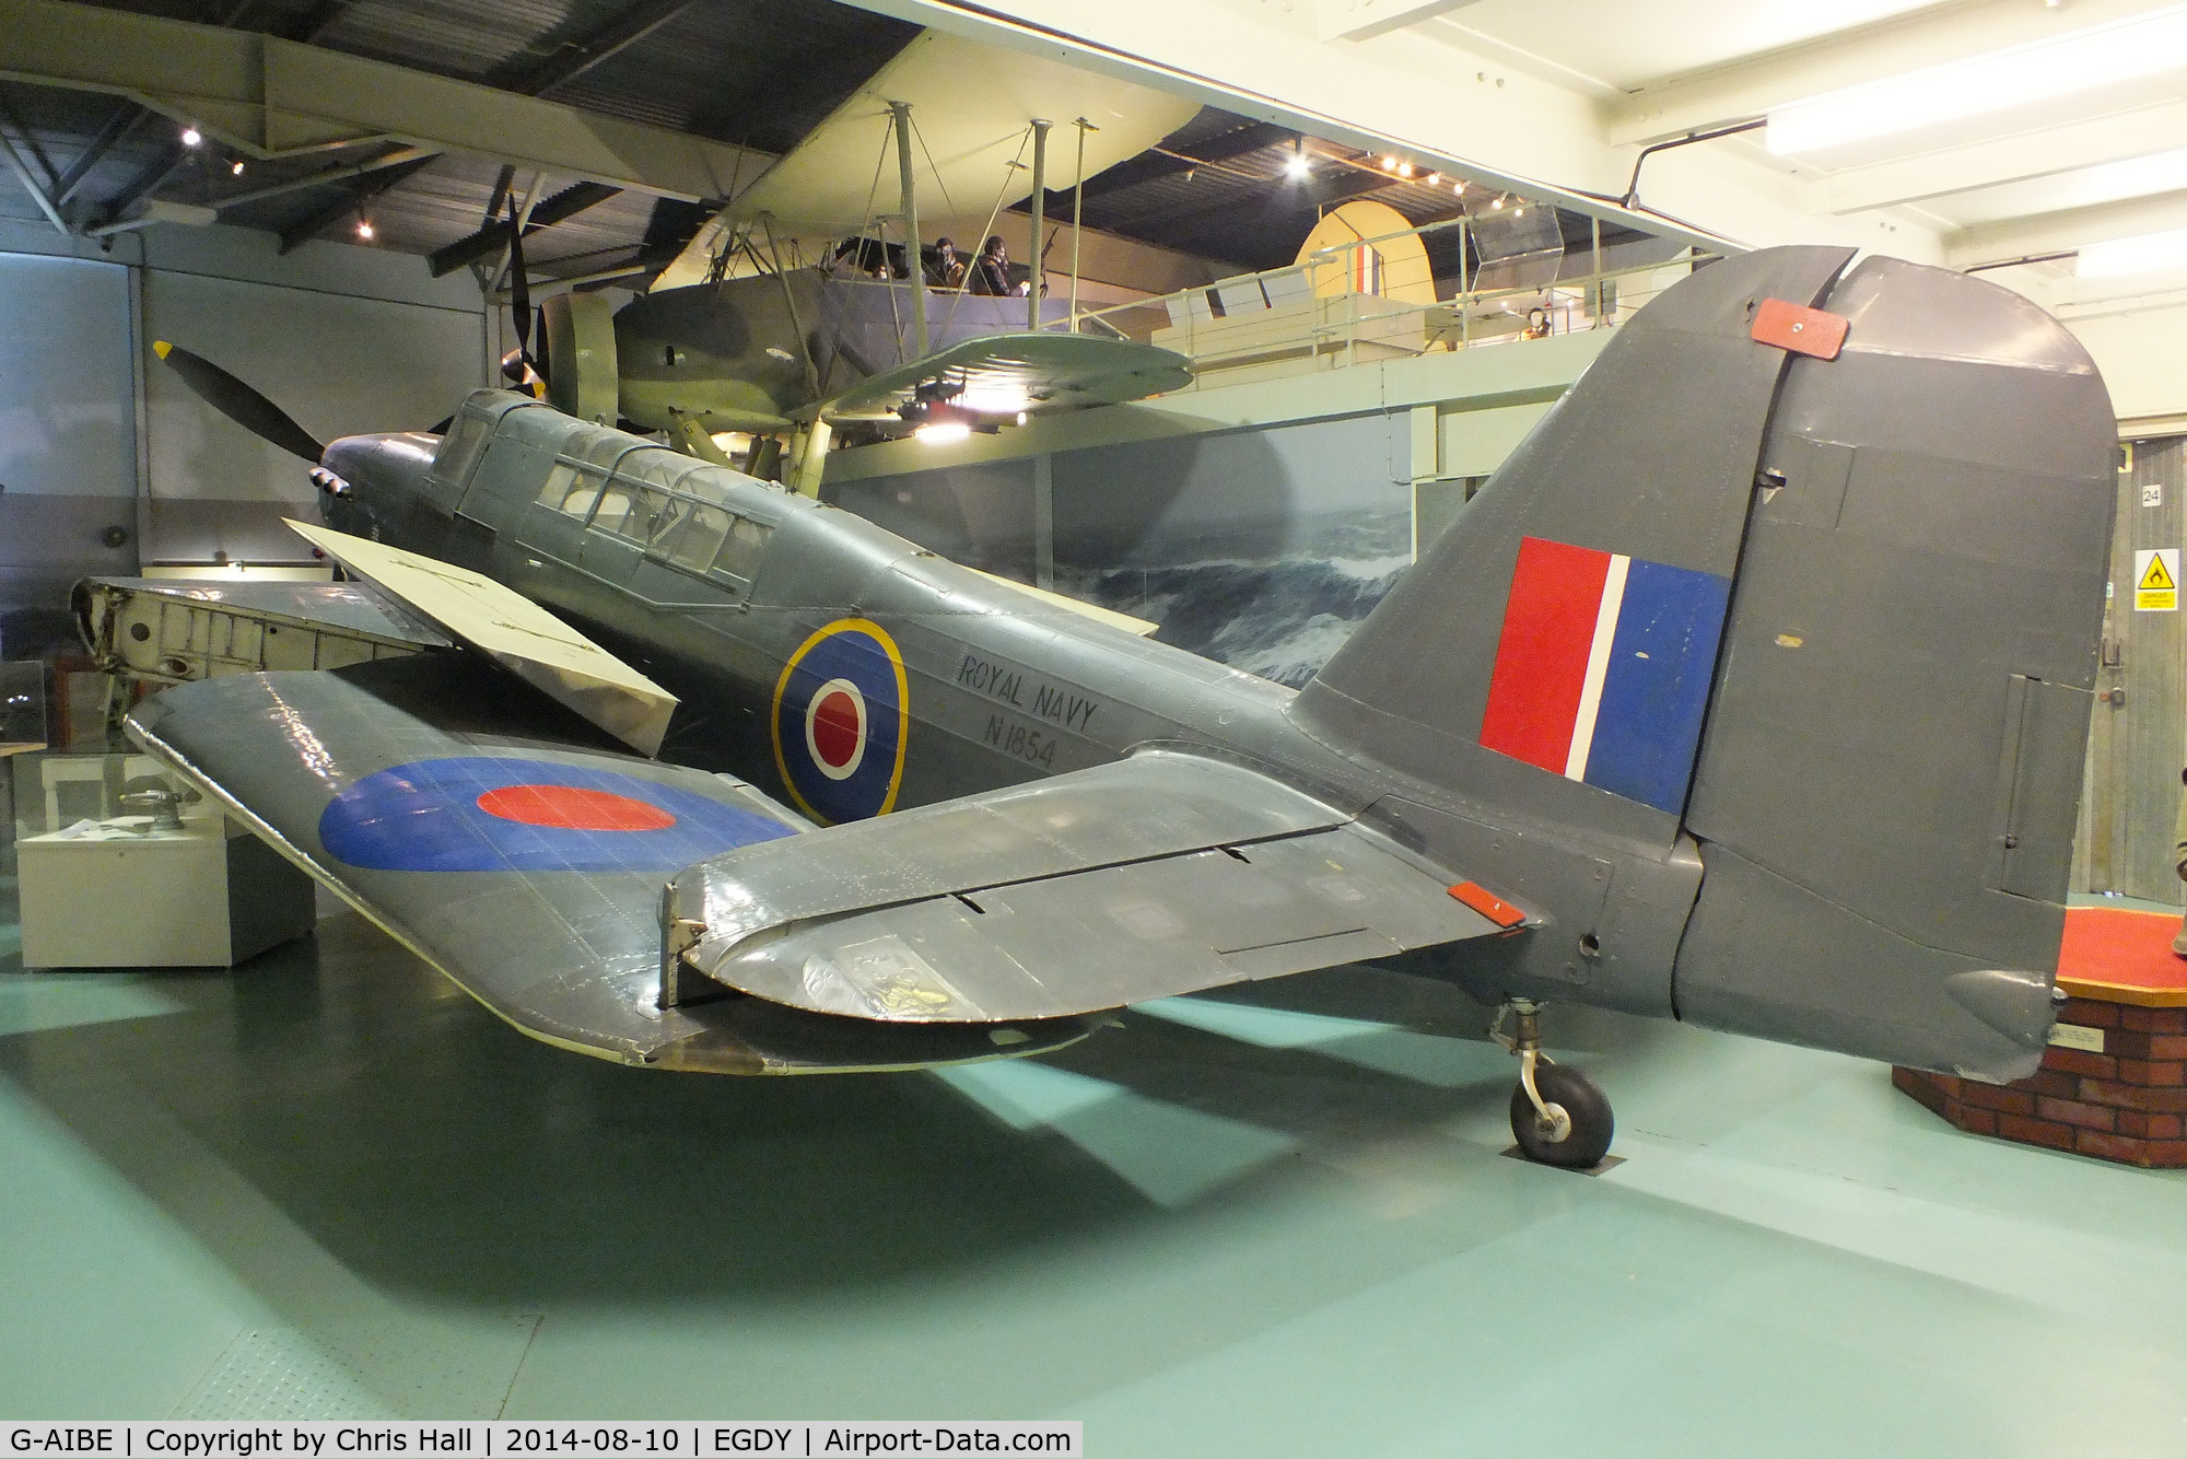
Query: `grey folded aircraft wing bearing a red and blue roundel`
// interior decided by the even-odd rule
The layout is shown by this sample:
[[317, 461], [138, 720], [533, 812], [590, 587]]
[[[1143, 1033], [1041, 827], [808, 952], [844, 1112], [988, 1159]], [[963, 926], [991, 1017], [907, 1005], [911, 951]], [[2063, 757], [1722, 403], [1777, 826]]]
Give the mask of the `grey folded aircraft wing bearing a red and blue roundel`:
[[468, 654], [234, 674], [129, 731], [284, 855], [523, 1032], [722, 1074], [901, 1070], [1021, 1054], [1076, 1019], [903, 1028], [757, 997], [660, 1008], [660, 886], [807, 822], [730, 777], [619, 752]]

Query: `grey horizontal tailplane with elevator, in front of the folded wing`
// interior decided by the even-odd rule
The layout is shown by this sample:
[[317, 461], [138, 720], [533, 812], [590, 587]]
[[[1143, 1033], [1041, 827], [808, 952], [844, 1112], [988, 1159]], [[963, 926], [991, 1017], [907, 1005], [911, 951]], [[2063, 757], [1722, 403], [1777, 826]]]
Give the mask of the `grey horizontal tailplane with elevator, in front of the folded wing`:
[[741, 847], [676, 877], [669, 908], [693, 930], [682, 960], [713, 982], [947, 1026], [1098, 1013], [1516, 925], [1461, 897], [1297, 790], [1153, 750]]

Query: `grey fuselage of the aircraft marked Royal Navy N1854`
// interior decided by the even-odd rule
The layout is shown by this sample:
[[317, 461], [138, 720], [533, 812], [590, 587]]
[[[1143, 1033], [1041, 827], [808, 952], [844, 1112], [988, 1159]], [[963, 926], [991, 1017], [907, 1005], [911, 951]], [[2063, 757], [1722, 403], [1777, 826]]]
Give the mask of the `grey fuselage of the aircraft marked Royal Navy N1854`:
[[[350, 494], [326, 499], [328, 525], [488, 573], [555, 610], [682, 700], [663, 757], [765, 785], [820, 825], [1163, 746], [1253, 766], [1369, 822], [1387, 816], [1393, 840], [1446, 866], [1507, 842], [1500, 862], [1529, 866], [1513, 882], [1537, 886], [1544, 910], [1577, 888], [1590, 925], [1610, 857], [1629, 860], [1627, 886], [1664, 908], [1699, 882], [1691, 853], [1586, 853], [1516, 827], [1330, 748], [1295, 722], [1297, 696], [1282, 685], [523, 396], [475, 394], [431, 468], [420, 459], [413, 437], [337, 442], [328, 466]], [[691, 551], [685, 527], [660, 525], [671, 503], [678, 521], [713, 512], [735, 525], [711, 553]], [[1629, 925], [1621, 1006], [1669, 1013], [1675, 936], [1677, 912]], [[1544, 971], [1518, 971], [1522, 952], [1546, 958]], [[1485, 991], [1502, 993], [1568, 984], [1577, 952], [1559, 936], [1419, 960], [1439, 958], [1463, 967], [1430, 971], [1492, 976]]]

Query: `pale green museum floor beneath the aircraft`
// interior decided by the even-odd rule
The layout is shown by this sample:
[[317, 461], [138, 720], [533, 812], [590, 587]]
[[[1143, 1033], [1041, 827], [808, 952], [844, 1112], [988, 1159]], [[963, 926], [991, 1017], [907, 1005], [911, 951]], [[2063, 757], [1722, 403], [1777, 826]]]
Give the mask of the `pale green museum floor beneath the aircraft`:
[[728, 1081], [521, 1039], [354, 914], [234, 976], [0, 938], [4, 1417], [2187, 1455], [2187, 1175], [1962, 1135], [1852, 1059], [1553, 1011], [1618, 1107], [1590, 1179], [1505, 1159], [1481, 1011], [1384, 973]]

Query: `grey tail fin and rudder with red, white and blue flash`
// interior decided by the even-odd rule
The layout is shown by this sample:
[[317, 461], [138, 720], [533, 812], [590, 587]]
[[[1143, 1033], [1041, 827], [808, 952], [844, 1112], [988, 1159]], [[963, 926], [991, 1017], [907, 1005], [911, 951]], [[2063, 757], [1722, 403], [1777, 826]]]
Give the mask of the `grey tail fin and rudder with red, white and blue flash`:
[[1295, 715], [1489, 820], [1697, 855], [1682, 1017], [2010, 1078], [2051, 1024], [2115, 422], [2027, 300], [1848, 258], [1649, 304]]

